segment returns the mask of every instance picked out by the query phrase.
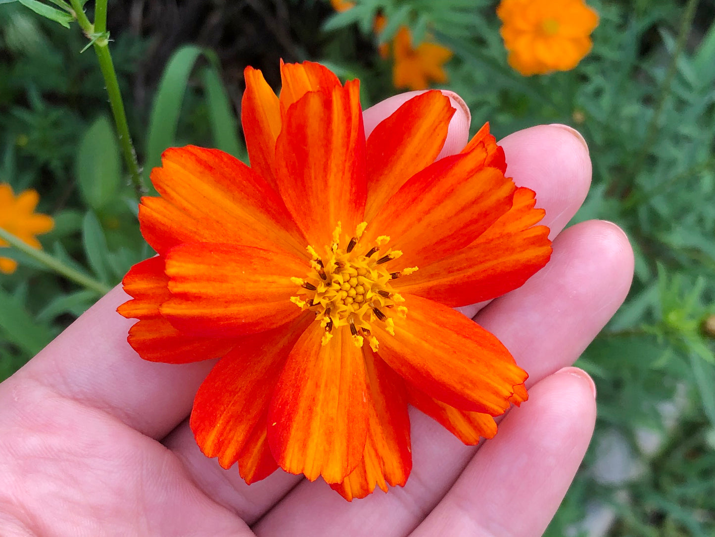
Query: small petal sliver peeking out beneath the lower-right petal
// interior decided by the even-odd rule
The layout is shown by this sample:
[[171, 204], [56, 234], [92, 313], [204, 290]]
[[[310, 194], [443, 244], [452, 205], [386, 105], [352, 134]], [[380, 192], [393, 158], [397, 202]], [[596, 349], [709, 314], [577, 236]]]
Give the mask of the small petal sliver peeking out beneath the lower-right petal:
[[466, 445], [477, 445], [480, 437], [492, 438], [496, 434], [496, 422], [488, 414], [450, 407], [410, 385], [408, 393], [410, 405], [433, 418]]

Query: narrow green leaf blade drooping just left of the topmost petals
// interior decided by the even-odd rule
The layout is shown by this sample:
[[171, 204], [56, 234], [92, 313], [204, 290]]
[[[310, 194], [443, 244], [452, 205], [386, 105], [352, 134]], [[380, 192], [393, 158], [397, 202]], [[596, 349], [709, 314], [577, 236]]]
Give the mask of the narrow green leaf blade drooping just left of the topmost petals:
[[215, 145], [218, 149], [239, 158], [243, 151], [238, 139], [238, 122], [218, 69], [213, 65], [204, 67], [202, 80], [206, 90], [209, 123]]

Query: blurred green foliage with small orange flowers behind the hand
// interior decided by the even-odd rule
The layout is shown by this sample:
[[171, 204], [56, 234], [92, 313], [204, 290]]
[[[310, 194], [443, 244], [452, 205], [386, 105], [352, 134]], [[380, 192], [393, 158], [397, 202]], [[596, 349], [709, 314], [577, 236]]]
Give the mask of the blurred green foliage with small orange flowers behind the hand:
[[152, 255], [136, 183], [165, 147], [247, 159], [247, 65], [279, 89], [280, 58], [322, 62], [360, 78], [364, 108], [448, 88], [473, 132], [582, 132], [593, 188], [574, 221], [614, 221], [636, 251], [626, 304], [578, 361], [596, 433], [546, 535], [715, 535], [715, 1], [112, 0], [108, 47], [78, 4], [104, 17], [0, 0], [0, 380]]

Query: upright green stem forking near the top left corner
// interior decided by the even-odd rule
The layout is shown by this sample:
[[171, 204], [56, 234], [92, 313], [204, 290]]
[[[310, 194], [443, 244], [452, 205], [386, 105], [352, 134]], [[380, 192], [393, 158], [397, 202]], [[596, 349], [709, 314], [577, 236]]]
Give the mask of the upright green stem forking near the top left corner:
[[107, 32], [107, 0], [97, 0], [95, 5], [96, 24], [92, 24], [87, 19], [79, 0], [70, 0], [70, 4], [79, 27], [82, 28], [82, 32], [87, 36], [87, 39], [94, 40], [92, 47], [94, 47], [94, 52], [97, 54], [99, 69], [102, 70], [104, 84], [107, 86], [109, 106], [112, 107], [114, 125], [117, 127], [117, 136], [119, 137], [119, 146], [122, 147], [124, 163], [127, 164], [134, 190], [137, 193], [137, 198], [139, 198], [146, 193], [146, 188], [144, 188], [142, 171], [139, 169], [139, 163], [137, 162], [137, 152], [134, 151], [134, 145], [132, 145], [132, 136], [129, 135], [129, 124], [127, 123], [127, 114], [124, 112], [122, 92], [119, 91], [119, 81], [117, 80], [117, 72], [114, 71], [112, 54], [109, 54], [109, 39], [106, 35], [97, 37], [97, 34], [106, 34]]

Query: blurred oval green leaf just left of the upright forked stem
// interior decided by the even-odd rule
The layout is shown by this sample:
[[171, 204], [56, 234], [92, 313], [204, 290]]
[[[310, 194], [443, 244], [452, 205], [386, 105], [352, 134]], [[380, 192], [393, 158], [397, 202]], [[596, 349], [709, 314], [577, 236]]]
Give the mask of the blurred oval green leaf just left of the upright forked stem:
[[75, 169], [79, 192], [90, 207], [100, 209], [117, 200], [122, 163], [117, 137], [107, 117], [98, 117], [84, 133]]

